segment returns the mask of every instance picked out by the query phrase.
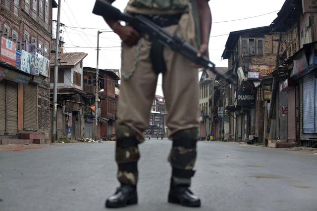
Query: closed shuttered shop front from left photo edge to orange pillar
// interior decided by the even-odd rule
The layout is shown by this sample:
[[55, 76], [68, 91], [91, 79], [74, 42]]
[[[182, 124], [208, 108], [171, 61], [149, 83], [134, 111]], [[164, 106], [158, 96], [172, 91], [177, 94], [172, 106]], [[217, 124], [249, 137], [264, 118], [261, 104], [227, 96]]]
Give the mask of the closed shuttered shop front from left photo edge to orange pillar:
[[17, 135], [18, 85], [0, 82], [0, 135]]

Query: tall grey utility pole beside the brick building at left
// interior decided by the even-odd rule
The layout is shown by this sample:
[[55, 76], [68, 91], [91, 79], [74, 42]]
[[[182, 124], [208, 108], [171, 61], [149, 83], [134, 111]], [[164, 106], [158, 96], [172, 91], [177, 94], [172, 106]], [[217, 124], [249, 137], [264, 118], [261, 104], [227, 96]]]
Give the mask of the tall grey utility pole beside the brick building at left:
[[59, 49], [59, 24], [60, 24], [60, 1], [57, 7], [57, 26], [55, 42], [55, 66], [54, 66], [54, 89], [53, 89], [53, 124], [52, 124], [52, 142], [56, 141], [56, 114], [57, 114], [57, 77], [58, 77], [58, 49]]

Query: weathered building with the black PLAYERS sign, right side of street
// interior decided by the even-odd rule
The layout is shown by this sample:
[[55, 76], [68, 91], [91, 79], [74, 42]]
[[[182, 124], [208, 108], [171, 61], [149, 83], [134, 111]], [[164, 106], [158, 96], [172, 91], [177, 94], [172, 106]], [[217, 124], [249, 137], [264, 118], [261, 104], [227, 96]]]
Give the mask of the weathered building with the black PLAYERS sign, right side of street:
[[[237, 141], [248, 141], [254, 136], [259, 141], [264, 139], [263, 120], [270, 93], [260, 84], [275, 69], [278, 39], [279, 34], [271, 32], [269, 26], [230, 32], [222, 54], [223, 59], [228, 59], [231, 74], [237, 75], [237, 85], [224, 84], [229, 87], [225, 92], [228, 99], [225, 101], [229, 104], [224, 103], [224, 107], [232, 116], [229, 126], [234, 127], [227, 134], [230, 138]], [[285, 44], [282, 44], [280, 54], [284, 50]]]

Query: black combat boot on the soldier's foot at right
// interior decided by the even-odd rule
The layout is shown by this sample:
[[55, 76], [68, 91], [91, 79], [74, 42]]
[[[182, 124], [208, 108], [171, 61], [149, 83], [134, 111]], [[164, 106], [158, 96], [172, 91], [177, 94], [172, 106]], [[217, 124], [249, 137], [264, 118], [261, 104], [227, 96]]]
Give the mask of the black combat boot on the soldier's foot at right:
[[189, 185], [173, 185], [172, 181], [168, 193], [168, 202], [185, 207], [200, 207], [201, 205], [200, 199], [189, 189]]

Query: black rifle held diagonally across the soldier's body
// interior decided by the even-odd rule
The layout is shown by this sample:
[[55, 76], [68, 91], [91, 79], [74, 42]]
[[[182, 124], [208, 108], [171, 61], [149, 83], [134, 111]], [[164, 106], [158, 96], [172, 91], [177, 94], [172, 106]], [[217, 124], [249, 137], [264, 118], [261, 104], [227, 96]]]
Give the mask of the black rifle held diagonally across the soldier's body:
[[181, 38], [171, 35], [157, 24], [153, 23], [146, 17], [140, 15], [131, 16], [129, 14], [123, 14], [119, 9], [112, 6], [106, 0], [96, 0], [93, 13], [96, 15], [101, 15], [104, 18], [109, 18], [113, 20], [121, 20], [129, 23], [136, 31], [138, 31], [142, 37], [149, 38], [150, 40], [155, 40], [160, 42], [165, 47], [171, 48], [173, 51], [182, 54], [187, 57], [192, 62], [202, 66], [205, 69], [210, 70], [214, 74], [222, 77], [229, 84], [236, 84], [236, 79], [234, 74], [230, 77], [219, 73], [215, 69], [215, 64], [212, 63], [206, 56], [198, 57], [198, 50], [192, 45], [186, 43]]

